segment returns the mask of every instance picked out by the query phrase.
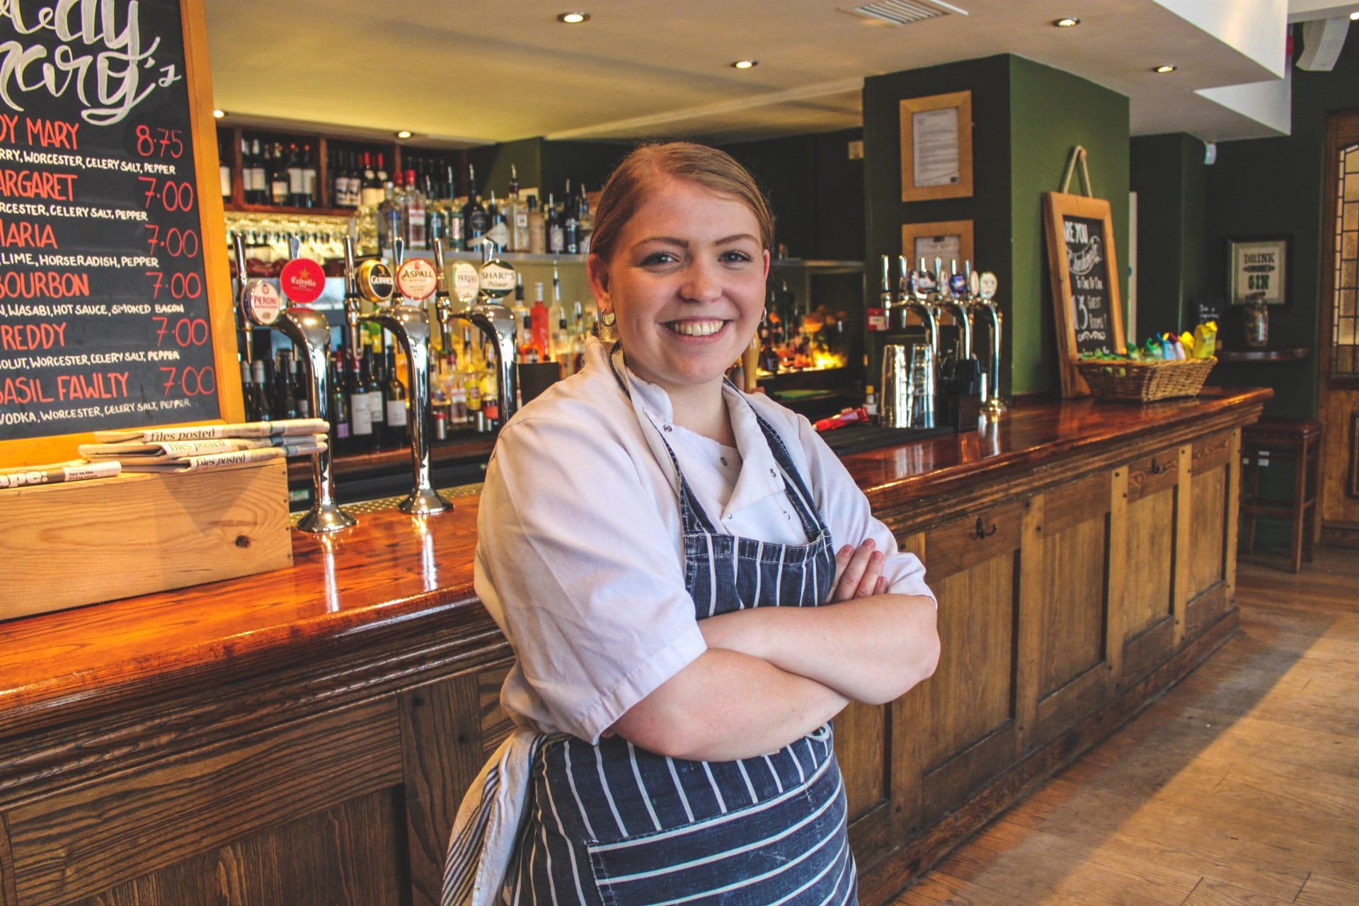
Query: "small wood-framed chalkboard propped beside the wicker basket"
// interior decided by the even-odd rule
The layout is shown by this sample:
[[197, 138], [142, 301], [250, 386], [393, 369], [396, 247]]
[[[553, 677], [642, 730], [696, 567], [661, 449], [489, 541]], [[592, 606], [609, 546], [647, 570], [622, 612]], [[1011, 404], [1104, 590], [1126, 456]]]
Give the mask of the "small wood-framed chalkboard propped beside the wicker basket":
[[1074, 363], [1083, 353], [1124, 352], [1113, 217], [1108, 201], [1060, 192], [1044, 193], [1042, 209], [1061, 395], [1080, 397], [1090, 388]]

